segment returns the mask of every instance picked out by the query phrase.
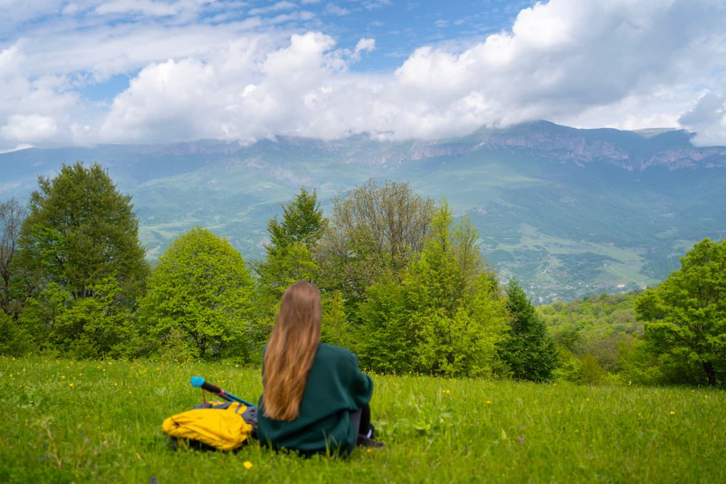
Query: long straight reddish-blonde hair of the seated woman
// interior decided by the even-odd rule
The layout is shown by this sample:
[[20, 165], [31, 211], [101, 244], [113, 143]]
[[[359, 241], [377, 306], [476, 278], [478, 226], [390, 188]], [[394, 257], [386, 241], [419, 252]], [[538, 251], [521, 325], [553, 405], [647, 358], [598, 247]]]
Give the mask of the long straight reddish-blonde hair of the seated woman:
[[290, 422], [300, 414], [308, 372], [320, 345], [320, 292], [307, 281], [282, 295], [264, 358], [264, 415]]

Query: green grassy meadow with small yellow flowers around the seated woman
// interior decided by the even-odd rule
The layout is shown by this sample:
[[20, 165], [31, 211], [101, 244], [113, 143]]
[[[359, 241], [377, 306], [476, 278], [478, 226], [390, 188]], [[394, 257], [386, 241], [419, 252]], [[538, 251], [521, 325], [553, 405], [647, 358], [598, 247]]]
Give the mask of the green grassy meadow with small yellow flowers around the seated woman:
[[386, 447], [335, 460], [170, 445], [163, 419], [202, 400], [189, 377], [256, 401], [257, 369], [0, 357], [0, 372], [1, 483], [726, 482], [718, 390], [373, 375]]

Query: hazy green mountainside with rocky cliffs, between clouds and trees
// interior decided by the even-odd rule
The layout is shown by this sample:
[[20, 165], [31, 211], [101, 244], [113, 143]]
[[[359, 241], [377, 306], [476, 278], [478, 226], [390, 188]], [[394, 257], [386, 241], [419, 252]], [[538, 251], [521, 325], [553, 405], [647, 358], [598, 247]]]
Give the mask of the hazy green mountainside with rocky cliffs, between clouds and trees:
[[445, 196], [481, 231], [503, 278], [536, 303], [657, 284], [693, 243], [726, 238], [726, 147], [685, 131], [580, 130], [544, 121], [439, 141], [277, 137], [0, 154], [0, 200], [26, 200], [60, 163], [98, 161], [134, 197], [142, 242], [157, 258], [195, 225], [261, 256], [265, 226], [300, 186], [330, 197], [377, 179]]

